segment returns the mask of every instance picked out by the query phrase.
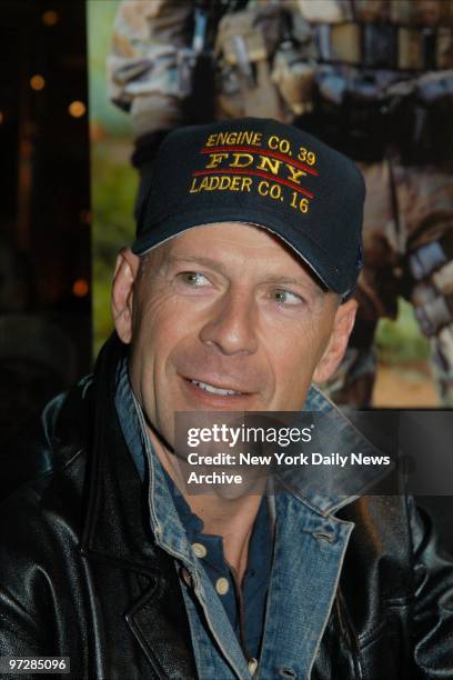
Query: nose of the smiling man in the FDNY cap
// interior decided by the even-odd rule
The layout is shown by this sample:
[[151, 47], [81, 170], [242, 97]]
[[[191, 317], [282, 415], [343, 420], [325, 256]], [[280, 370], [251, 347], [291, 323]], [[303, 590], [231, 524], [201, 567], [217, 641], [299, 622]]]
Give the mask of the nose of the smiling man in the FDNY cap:
[[210, 310], [200, 340], [222, 354], [253, 354], [258, 349], [255, 302], [244, 292], [231, 290]]

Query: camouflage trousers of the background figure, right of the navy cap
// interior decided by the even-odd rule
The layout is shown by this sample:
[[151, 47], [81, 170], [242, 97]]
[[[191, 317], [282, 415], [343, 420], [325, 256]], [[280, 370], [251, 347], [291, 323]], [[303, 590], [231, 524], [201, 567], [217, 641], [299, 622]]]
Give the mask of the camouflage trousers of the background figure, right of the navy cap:
[[[442, 267], [419, 281], [413, 277], [410, 259], [423, 246], [453, 234], [452, 174], [389, 160], [363, 164], [361, 169], [368, 199], [363, 232], [365, 266], [356, 290], [358, 321], [338, 373], [324, 386], [338, 403], [353, 407], [371, 403], [376, 368], [373, 334], [379, 319], [396, 317], [400, 296], [413, 304], [420, 317], [426, 300], [429, 304], [443, 304], [449, 296], [452, 300], [453, 293], [453, 252], [446, 253]], [[439, 277], [442, 271], [447, 274], [443, 282]], [[422, 324], [422, 331], [430, 334], [440, 401], [453, 406], [453, 319], [444, 319], [435, 332]]]

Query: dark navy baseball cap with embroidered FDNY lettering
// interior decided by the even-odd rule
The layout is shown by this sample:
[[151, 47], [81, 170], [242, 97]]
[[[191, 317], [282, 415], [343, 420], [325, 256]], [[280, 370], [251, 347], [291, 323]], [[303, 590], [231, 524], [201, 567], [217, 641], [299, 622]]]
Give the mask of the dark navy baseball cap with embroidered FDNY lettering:
[[280, 237], [328, 289], [348, 296], [362, 266], [364, 197], [355, 164], [293, 126], [245, 118], [183, 127], [159, 148], [132, 251], [244, 222]]

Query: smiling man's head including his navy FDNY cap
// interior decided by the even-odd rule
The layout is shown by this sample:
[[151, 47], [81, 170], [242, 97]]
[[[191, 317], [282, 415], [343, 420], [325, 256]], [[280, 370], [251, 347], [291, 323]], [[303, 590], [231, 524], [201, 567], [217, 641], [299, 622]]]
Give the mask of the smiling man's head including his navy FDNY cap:
[[[348, 252], [344, 258], [341, 250], [334, 252], [335, 247], [324, 252], [323, 248], [330, 241], [341, 242], [338, 234], [329, 236], [341, 224], [326, 222], [328, 218], [334, 219], [329, 207], [318, 223], [323, 236], [318, 242], [313, 241], [315, 223], [313, 220], [304, 221], [305, 208], [301, 209], [299, 204], [296, 216], [292, 216], [295, 211], [291, 207], [293, 193], [298, 194], [299, 201], [302, 200], [293, 184], [301, 187], [295, 180], [302, 177], [318, 179], [325, 174], [330, 178], [328, 183], [332, 184], [331, 193], [339, 194], [335, 184], [344, 179], [333, 179], [331, 167], [332, 163], [339, 164], [339, 154], [325, 151], [321, 142], [308, 139], [309, 136], [299, 131], [295, 134], [286, 127], [283, 127], [286, 137], [282, 137], [282, 127], [278, 123], [245, 122], [245, 130], [250, 126], [256, 130], [265, 127], [266, 133], [258, 136], [256, 130], [252, 130], [254, 137], [238, 138], [241, 121], [187, 129], [187, 134], [195, 134], [202, 142], [200, 148], [205, 164], [214, 162], [212, 153], [224, 153], [226, 160], [231, 157], [236, 166], [251, 159], [246, 168], [236, 168], [246, 172], [235, 176], [229, 172], [234, 167], [223, 166], [218, 166], [215, 173], [209, 174], [198, 174], [199, 171], [194, 170], [194, 178], [219, 178], [219, 188], [212, 188], [212, 182], [204, 183], [204, 189], [200, 188], [190, 177], [189, 184], [182, 182], [179, 187], [179, 196], [172, 188], [167, 199], [162, 194], [165, 183], [161, 183], [159, 206], [149, 203], [147, 214], [142, 216], [133, 247], [135, 252], [123, 250], [117, 263], [113, 316], [120, 338], [132, 346], [132, 387], [149, 421], [169, 442], [173, 440], [173, 414], [179, 410], [299, 410], [312, 380], [323, 381], [335, 370], [354, 321], [355, 302], [344, 302], [343, 299], [358, 273], [360, 224], [356, 224], [363, 202], [359, 174], [349, 167], [350, 161], [341, 157], [340, 164], [348, 163], [346, 180], [355, 182], [351, 187], [346, 181], [343, 190], [343, 194], [349, 197], [344, 204], [355, 209], [354, 214], [349, 216], [350, 222], [344, 223], [343, 237], [345, 243], [353, 243], [355, 252], [353, 257]], [[219, 130], [223, 128], [225, 131], [233, 128], [235, 139], [229, 139], [226, 134], [219, 137]], [[172, 134], [178, 137], [180, 133]], [[280, 141], [283, 150], [274, 152], [273, 146], [278, 143], [274, 138], [291, 138], [290, 146]], [[177, 141], [177, 146], [164, 143], [161, 148], [151, 202], [158, 200], [155, 183], [162, 168], [173, 164], [173, 181], [181, 183], [179, 173], [182, 171], [178, 162], [189, 167], [191, 161], [198, 160], [189, 150], [192, 140], [185, 149], [181, 138]], [[218, 151], [221, 141], [223, 151]], [[215, 144], [214, 151], [204, 153], [211, 148], [211, 142]], [[311, 154], [311, 164], [306, 167], [315, 169], [315, 176], [309, 172], [296, 174], [304, 166], [302, 161], [292, 166], [294, 154], [301, 153], [302, 142], [306, 154]], [[231, 156], [234, 153], [244, 156]], [[326, 158], [322, 161], [324, 156]], [[256, 163], [264, 167], [264, 162], [255, 157], [278, 161], [266, 166], [275, 170], [272, 181], [263, 179], [264, 170], [256, 168]], [[220, 161], [224, 158], [221, 157]], [[328, 161], [329, 168], [325, 167]], [[284, 177], [283, 164], [286, 167]], [[280, 182], [288, 173], [293, 179]], [[224, 188], [225, 183], [221, 182], [224, 178], [233, 181], [230, 174], [235, 189], [231, 189], [231, 183], [230, 189]], [[244, 180], [249, 181], [244, 183]], [[195, 186], [197, 200], [192, 203], [190, 191]], [[321, 193], [328, 196], [328, 189], [322, 186]], [[270, 191], [278, 198], [270, 197]], [[218, 210], [218, 201], [212, 198], [215, 192], [222, 193]], [[229, 204], [223, 199], [225, 192], [232, 194], [231, 218], [225, 212]], [[246, 196], [238, 201], [238, 192]], [[315, 201], [316, 198], [310, 200], [308, 210]], [[178, 207], [181, 212], [178, 212]], [[161, 219], [157, 219], [158, 212], [153, 210], [160, 211]], [[167, 218], [163, 216], [165, 210]], [[215, 213], [219, 219], [214, 219]], [[318, 213], [321, 219], [322, 211], [318, 210]], [[241, 218], [234, 219], [236, 214]]]

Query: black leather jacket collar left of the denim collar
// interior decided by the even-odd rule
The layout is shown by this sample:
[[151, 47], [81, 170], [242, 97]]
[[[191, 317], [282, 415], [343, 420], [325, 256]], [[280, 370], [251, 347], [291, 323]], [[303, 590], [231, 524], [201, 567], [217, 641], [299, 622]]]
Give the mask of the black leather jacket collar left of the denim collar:
[[113, 334], [101, 350], [90, 388], [89, 488], [81, 549], [151, 573], [157, 553], [154, 537], [143, 521], [145, 491], [114, 408], [115, 368], [124, 351]]

